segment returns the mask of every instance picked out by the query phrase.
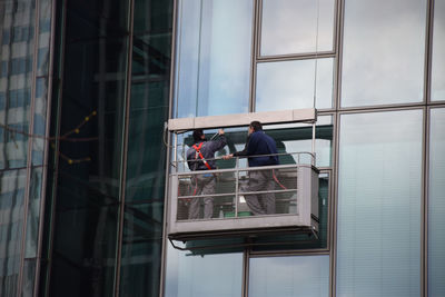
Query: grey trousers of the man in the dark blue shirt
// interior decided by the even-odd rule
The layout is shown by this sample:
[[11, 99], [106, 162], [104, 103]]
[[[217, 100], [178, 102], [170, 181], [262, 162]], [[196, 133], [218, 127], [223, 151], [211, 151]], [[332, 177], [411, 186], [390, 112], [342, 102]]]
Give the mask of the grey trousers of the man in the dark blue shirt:
[[[270, 191], [275, 189], [275, 181], [271, 170], [258, 170], [249, 172], [248, 191]], [[275, 214], [275, 194], [246, 195], [247, 206], [254, 215]]]

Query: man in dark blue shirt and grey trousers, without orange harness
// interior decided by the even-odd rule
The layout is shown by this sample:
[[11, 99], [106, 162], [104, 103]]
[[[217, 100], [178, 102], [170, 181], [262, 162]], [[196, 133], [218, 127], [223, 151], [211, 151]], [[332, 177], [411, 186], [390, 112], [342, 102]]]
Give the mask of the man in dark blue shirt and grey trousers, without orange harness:
[[[222, 158], [248, 157], [249, 167], [261, 167], [279, 165], [277, 154], [275, 140], [263, 131], [263, 126], [259, 121], [253, 121], [249, 125], [245, 149], [224, 156]], [[249, 171], [248, 191], [271, 191], [274, 189], [273, 169]], [[254, 215], [275, 214], [274, 192], [246, 195], [245, 198], [247, 206]]]

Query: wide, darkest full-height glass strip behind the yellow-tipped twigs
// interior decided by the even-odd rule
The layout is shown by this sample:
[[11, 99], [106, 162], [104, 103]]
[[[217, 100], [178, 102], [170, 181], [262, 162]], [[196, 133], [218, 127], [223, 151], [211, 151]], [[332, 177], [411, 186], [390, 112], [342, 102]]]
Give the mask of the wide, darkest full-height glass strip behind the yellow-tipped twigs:
[[113, 295], [128, 6], [67, 1], [51, 296]]

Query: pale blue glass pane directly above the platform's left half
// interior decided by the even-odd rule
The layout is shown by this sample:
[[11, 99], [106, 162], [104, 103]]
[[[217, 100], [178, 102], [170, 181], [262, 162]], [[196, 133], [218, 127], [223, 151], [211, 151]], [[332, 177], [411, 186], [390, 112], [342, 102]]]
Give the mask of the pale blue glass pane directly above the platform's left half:
[[251, 0], [178, 4], [175, 117], [248, 111]]

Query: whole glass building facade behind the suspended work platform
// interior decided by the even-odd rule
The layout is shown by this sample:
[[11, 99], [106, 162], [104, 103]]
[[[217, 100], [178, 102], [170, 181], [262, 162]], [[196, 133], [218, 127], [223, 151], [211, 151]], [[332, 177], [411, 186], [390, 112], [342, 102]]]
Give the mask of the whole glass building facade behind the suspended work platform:
[[[444, 53], [444, 0], [0, 0], [0, 296], [445, 296]], [[168, 119], [307, 108], [318, 238], [168, 239]]]

